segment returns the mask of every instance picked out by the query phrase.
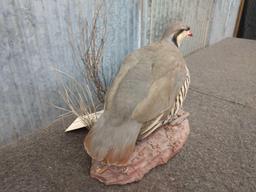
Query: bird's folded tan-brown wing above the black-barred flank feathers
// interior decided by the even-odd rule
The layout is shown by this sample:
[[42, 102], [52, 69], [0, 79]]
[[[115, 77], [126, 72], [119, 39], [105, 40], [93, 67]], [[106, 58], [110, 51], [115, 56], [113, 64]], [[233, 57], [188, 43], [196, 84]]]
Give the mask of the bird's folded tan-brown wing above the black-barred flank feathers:
[[[140, 123], [150, 121], [169, 110], [186, 78], [183, 60], [176, 60], [172, 70], [154, 81], [147, 96], [136, 106], [132, 118]], [[157, 69], [156, 69], [157, 70]]]

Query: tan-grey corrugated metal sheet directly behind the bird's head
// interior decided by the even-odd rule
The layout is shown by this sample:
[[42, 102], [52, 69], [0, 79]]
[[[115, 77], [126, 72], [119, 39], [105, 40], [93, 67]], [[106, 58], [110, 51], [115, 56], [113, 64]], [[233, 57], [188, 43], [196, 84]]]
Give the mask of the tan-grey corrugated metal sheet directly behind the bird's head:
[[159, 39], [165, 27], [172, 21], [189, 25], [194, 37], [182, 45], [184, 54], [205, 47], [211, 23], [213, 0], [144, 0], [142, 15], [142, 45]]

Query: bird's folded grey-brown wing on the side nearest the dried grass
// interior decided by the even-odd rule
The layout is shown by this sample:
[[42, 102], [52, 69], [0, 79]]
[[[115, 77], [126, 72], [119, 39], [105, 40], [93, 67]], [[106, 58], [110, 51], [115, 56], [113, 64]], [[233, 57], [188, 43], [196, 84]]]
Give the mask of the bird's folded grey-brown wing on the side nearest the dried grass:
[[[146, 55], [146, 56], [145, 56]], [[151, 65], [154, 53], [146, 48], [128, 55], [107, 93], [105, 110], [121, 119], [130, 118], [152, 84]]]

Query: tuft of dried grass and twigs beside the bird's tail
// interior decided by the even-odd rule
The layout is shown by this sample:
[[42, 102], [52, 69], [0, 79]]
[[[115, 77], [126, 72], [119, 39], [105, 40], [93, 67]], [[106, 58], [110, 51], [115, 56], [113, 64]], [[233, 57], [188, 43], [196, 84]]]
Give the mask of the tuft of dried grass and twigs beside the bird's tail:
[[[98, 106], [104, 104], [107, 90], [107, 81], [103, 74], [102, 58], [106, 40], [107, 17], [102, 1], [95, 8], [92, 21], [87, 18], [79, 20], [79, 42], [76, 43], [72, 23], [68, 23], [69, 42], [72, 48], [73, 58], [82, 79], [56, 71], [62, 75], [62, 91], [59, 92], [67, 108], [56, 106], [67, 114], [79, 117], [90, 128], [96, 121], [95, 113]], [[97, 99], [96, 99], [96, 98]], [[98, 105], [96, 105], [96, 103]]]

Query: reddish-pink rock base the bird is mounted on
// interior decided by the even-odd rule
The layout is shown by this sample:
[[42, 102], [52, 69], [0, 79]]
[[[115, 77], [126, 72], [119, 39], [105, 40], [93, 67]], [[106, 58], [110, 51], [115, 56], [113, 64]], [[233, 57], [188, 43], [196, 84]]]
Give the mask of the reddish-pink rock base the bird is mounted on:
[[113, 166], [93, 160], [91, 177], [106, 185], [127, 184], [139, 181], [154, 167], [165, 164], [185, 144], [189, 135], [188, 120], [181, 124], [164, 125], [146, 139], [137, 143], [127, 165]]

